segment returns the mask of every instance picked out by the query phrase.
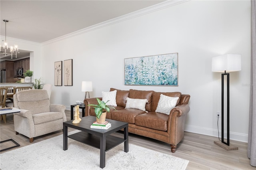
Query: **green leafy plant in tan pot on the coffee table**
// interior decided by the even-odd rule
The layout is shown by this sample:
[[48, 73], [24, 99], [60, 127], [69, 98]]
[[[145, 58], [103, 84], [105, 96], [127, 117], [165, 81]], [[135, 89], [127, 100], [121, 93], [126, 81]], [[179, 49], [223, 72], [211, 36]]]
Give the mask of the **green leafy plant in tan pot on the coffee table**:
[[[104, 123], [106, 120], [107, 112], [110, 112], [111, 106], [106, 105], [106, 103], [108, 103], [109, 100], [106, 103], [104, 101], [101, 101], [98, 98], [96, 98], [96, 100], [98, 101], [98, 105], [90, 104], [88, 106], [93, 106], [93, 108], [95, 109], [94, 112], [96, 115], [97, 123]], [[114, 107], [111, 107], [111, 108], [115, 109]]]

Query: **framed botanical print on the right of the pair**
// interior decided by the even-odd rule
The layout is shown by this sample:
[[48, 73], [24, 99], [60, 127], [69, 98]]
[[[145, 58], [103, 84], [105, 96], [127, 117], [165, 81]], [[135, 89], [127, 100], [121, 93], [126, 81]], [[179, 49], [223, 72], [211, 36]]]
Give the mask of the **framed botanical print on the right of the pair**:
[[64, 86], [73, 85], [73, 59], [64, 60]]

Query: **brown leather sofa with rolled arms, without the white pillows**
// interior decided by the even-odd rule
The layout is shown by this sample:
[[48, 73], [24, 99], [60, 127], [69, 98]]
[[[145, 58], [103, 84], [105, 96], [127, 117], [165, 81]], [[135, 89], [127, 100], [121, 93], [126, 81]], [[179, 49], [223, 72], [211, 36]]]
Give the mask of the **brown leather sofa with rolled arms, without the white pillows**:
[[[107, 113], [106, 118], [129, 123], [129, 132], [146, 136], [170, 144], [171, 151], [175, 152], [177, 144], [184, 136], [184, 125], [186, 115], [190, 111], [188, 101], [190, 95], [180, 92], [155, 92], [130, 89], [128, 91], [111, 88], [110, 91], [117, 90], [116, 104], [114, 109]], [[160, 94], [179, 97], [176, 107], [170, 111], [170, 115], [157, 113], [156, 107], [160, 99]], [[125, 109], [126, 97], [132, 99], [147, 99], [146, 111], [139, 109]], [[101, 97], [98, 97], [102, 100]], [[84, 99], [86, 106], [85, 116], [95, 116], [94, 108], [89, 104], [97, 104], [96, 98]]]

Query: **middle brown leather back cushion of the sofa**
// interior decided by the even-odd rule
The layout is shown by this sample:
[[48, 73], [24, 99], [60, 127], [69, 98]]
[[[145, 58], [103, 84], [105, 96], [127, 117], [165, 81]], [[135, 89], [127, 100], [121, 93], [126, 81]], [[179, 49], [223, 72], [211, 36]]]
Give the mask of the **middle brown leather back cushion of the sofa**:
[[154, 91], [143, 91], [130, 89], [129, 98], [132, 99], [147, 99], [146, 111], [151, 111], [152, 93]]

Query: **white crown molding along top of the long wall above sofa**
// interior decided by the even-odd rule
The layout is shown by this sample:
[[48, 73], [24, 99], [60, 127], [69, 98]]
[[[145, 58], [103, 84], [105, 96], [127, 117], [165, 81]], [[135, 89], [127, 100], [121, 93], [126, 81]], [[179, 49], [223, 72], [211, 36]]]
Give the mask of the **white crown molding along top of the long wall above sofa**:
[[116, 24], [118, 22], [123, 22], [125, 20], [136, 18], [136, 17], [142, 16], [142, 15], [145, 15], [145, 14], [149, 14], [149, 13], [152, 13], [152, 12], [155, 12], [155, 11], [158, 11], [158, 10], [162, 10], [164, 8], [168, 8], [170, 6], [178, 5], [178, 4], [181, 4], [183, 2], [188, 2], [188, 1], [190, 1], [190, 0], [166, 0], [166, 1], [161, 2], [159, 4], [156, 4], [156, 5], [141, 9], [141, 10], [137, 10], [135, 12], [131, 12], [129, 14], [126, 14], [126, 15], [123, 15], [123, 16], [120, 16], [120, 17], [117, 17], [117, 18], [113, 18], [111, 20], [101, 22], [99, 24], [95, 24], [95, 25], [87, 27], [87, 28], [83, 28], [81, 30], [78, 30], [76, 32], [72, 32], [70, 34], [66, 34], [64, 36], [60, 36], [58, 38], [54, 38], [52, 40], [41, 43], [41, 45], [47, 45], [47, 44], [51, 44], [51, 43], [58, 42], [58, 41], [61, 41], [61, 40], [65, 40], [67, 38], [78, 36], [78, 35], [84, 34], [86, 32], [97, 30], [99, 28], [110, 26], [110, 25]]

